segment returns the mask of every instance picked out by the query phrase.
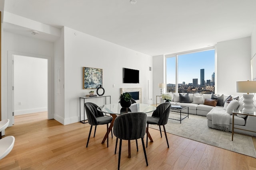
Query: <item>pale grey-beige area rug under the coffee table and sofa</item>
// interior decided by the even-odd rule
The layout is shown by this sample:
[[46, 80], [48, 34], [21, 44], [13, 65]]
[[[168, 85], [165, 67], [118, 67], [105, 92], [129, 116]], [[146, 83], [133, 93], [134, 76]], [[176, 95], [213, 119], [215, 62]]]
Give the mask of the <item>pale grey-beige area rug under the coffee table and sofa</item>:
[[[149, 125], [149, 127], [159, 130], [157, 125]], [[232, 141], [231, 132], [208, 127], [205, 116], [189, 115], [189, 118], [182, 120], [181, 124], [180, 121], [169, 119], [165, 127], [168, 133], [256, 158], [252, 137], [234, 134]]]

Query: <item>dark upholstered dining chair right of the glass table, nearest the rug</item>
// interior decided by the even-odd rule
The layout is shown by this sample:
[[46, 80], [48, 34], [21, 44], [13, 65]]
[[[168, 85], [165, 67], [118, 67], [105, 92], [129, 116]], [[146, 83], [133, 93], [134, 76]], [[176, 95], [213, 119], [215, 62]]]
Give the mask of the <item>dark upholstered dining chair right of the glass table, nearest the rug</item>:
[[[165, 102], [160, 104], [156, 107], [156, 110], [153, 111], [152, 116], [147, 117], [147, 139], [146, 139], [146, 147], [148, 147], [148, 125], [158, 125], [160, 130], [160, 135], [162, 137], [162, 131], [161, 131], [161, 125], [164, 127], [164, 125], [168, 122], [168, 117], [170, 114], [171, 104], [170, 102]], [[169, 143], [166, 135], [166, 130], [164, 127], [164, 134], [167, 142], [167, 146], [169, 148]]]

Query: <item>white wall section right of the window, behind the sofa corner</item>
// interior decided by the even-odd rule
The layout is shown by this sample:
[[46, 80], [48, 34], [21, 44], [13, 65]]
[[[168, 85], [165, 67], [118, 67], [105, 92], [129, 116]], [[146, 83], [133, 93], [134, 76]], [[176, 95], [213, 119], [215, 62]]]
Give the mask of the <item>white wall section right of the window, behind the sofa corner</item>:
[[233, 39], [217, 43], [218, 94], [236, 93], [236, 81], [251, 80], [251, 39]]

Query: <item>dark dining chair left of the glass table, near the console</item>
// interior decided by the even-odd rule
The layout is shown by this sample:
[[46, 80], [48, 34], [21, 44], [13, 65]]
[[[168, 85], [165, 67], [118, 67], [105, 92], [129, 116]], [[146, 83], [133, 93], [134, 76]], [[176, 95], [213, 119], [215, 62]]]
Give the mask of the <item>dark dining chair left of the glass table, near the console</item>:
[[[87, 103], [84, 104], [84, 108], [85, 108], [85, 111], [86, 111], [88, 123], [91, 125], [88, 140], [87, 140], [87, 144], [86, 144], [86, 148], [88, 147], [90, 135], [91, 135], [91, 132], [92, 132], [92, 126], [95, 126], [94, 137], [95, 137], [97, 125], [105, 125], [106, 124], [107, 125], [107, 133], [109, 133], [108, 123], [111, 123], [111, 121], [113, 119], [111, 116], [104, 115], [102, 113], [102, 111], [98, 111], [97, 107], [98, 106], [96, 104], [90, 103], [90, 102], [87, 102]], [[107, 147], [108, 147], [108, 137], [107, 137]]]

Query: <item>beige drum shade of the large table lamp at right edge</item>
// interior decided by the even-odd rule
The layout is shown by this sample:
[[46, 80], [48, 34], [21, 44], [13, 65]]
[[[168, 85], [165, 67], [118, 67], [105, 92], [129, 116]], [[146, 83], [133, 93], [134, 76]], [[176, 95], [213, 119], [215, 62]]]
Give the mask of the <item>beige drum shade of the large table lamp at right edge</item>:
[[239, 93], [256, 93], [256, 81], [236, 82], [236, 92]]

